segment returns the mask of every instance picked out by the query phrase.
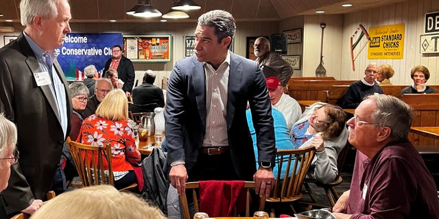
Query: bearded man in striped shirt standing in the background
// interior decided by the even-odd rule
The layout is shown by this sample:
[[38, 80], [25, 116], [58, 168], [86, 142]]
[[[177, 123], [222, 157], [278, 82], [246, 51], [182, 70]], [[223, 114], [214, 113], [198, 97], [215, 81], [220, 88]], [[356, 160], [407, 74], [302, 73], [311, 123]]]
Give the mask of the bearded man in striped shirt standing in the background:
[[254, 55], [257, 56], [256, 62], [263, 71], [265, 78], [277, 77], [281, 80], [282, 86], [287, 86], [289, 78], [293, 75], [293, 67], [283, 60], [281, 55], [270, 51], [270, 41], [260, 37], [254, 40]]

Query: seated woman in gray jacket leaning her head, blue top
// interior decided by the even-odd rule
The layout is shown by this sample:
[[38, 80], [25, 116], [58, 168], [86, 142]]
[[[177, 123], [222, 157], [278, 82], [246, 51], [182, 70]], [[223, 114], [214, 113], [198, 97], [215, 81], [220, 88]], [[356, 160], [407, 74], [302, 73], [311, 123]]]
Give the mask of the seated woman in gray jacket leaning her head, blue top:
[[316, 148], [307, 177], [320, 183], [334, 181], [338, 175], [337, 156], [346, 146], [348, 129], [341, 107], [314, 103], [306, 108], [290, 133], [294, 148]]

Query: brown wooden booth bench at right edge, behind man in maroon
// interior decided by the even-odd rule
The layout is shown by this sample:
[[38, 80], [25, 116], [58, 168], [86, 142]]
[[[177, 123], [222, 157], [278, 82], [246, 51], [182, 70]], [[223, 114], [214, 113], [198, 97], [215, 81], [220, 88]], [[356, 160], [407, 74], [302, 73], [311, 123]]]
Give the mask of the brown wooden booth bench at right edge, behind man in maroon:
[[[439, 127], [439, 94], [404, 94], [401, 96], [413, 108], [412, 127]], [[439, 146], [439, 140], [409, 133], [414, 146]]]

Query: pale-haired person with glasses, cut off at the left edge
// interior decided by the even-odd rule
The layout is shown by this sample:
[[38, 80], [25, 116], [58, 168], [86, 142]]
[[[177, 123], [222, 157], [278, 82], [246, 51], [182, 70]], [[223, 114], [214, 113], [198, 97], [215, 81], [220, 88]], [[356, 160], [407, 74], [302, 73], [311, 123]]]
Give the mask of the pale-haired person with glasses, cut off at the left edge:
[[16, 126], [0, 114], [0, 192], [8, 187], [10, 167], [19, 161], [19, 151], [15, 149]]

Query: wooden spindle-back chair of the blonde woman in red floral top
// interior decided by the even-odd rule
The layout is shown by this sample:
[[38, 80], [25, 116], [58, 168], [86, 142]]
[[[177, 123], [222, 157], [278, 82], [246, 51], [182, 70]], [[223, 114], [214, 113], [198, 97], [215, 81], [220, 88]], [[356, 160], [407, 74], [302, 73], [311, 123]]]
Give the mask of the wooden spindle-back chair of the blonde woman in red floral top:
[[[115, 185], [115, 179], [112, 174], [111, 146], [109, 144], [95, 146], [81, 144], [67, 138], [67, 145], [84, 187], [100, 184]], [[108, 166], [108, 170], [104, 170], [104, 163]], [[134, 188], [137, 188], [137, 183], [133, 183], [119, 191]]]

